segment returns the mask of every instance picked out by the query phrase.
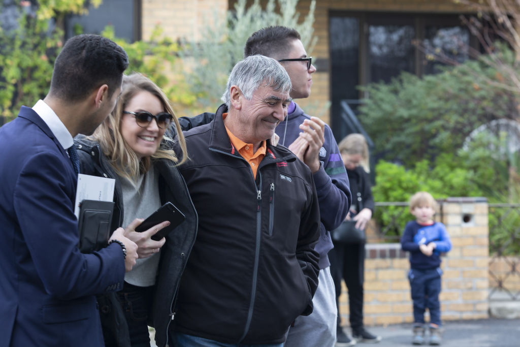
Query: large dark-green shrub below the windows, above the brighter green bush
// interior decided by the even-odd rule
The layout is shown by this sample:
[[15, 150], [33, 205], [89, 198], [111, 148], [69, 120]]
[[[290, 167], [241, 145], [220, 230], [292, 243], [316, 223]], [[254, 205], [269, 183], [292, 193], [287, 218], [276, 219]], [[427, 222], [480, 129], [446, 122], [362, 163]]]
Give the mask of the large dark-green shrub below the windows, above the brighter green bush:
[[[504, 59], [513, 58], [504, 54]], [[518, 92], [496, 85], [504, 78], [482, 61], [421, 78], [405, 72], [388, 84], [361, 87], [369, 98], [359, 119], [374, 141], [374, 154], [384, 160], [407, 168], [423, 159], [434, 161], [439, 153], [456, 154], [479, 125], [518, 119]]]

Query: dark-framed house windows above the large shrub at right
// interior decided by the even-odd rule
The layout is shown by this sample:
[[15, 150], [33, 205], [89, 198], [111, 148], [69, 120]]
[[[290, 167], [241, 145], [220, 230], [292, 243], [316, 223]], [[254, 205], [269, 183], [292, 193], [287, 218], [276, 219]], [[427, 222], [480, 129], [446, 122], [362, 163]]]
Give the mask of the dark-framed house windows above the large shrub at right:
[[[343, 101], [357, 114], [363, 97], [358, 85], [389, 82], [402, 71], [436, 73], [445, 62], [432, 60], [432, 54], [442, 52], [446, 61], [463, 62], [469, 47], [478, 48], [455, 14], [331, 12], [329, 36], [331, 122], [337, 140], [359, 132], [345, 119], [342, 107]], [[422, 43], [420, 48], [415, 41]]]

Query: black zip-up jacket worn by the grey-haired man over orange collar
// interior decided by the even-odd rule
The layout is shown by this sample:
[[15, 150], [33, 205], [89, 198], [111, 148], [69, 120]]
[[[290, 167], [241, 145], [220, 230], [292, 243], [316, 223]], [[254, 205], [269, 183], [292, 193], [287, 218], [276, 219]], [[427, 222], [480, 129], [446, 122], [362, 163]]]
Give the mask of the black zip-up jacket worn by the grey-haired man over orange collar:
[[258, 165], [231, 145], [221, 106], [185, 133], [179, 167], [199, 213], [197, 241], [181, 280], [172, 328], [224, 343], [271, 344], [312, 312], [320, 215], [313, 177], [287, 148]]

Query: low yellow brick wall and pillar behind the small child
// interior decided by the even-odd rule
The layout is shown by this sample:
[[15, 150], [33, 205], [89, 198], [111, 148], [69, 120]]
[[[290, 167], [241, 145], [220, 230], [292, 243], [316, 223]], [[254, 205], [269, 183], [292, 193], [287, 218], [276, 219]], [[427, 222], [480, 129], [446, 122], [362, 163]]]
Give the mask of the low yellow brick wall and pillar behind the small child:
[[[484, 199], [449, 198], [440, 204], [452, 250], [443, 257], [444, 320], [488, 317], [488, 207]], [[366, 325], [413, 322], [408, 254], [399, 243], [368, 243], [365, 261]], [[345, 284], [340, 297], [343, 325], [348, 325]], [[427, 314], [426, 314], [427, 317]], [[427, 318], [426, 318], [427, 319]]]

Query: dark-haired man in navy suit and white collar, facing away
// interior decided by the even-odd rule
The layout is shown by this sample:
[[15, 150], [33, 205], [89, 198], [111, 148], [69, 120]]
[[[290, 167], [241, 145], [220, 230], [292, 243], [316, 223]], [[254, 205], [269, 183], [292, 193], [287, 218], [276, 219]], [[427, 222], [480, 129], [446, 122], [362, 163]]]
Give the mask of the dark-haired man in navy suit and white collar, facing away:
[[0, 128], [0, 346], [102, 346], [95, 294], [121, 289], [137, 246], [118, 228], [82, 254], [73, 136], [112, 111], [124, 50], [79, 35], [56, 59], [49, 94]]

